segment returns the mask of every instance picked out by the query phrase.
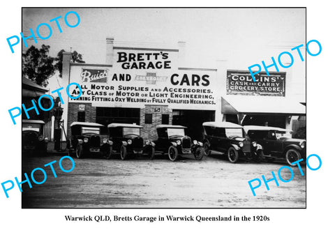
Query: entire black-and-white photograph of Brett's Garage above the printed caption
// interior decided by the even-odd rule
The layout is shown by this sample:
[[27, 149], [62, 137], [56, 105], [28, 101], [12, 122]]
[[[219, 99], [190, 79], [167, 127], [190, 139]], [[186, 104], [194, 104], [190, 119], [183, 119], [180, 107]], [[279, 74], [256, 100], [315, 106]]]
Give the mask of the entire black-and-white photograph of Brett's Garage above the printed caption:
[[22, 8], [22, 34], [22, 208], [306, 208], [305, 7]]

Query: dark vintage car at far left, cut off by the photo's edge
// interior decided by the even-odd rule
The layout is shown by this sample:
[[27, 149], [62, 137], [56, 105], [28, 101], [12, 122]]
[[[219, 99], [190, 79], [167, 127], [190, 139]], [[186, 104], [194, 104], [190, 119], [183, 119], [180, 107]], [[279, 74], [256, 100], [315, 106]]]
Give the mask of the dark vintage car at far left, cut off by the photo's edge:
[[22, 151], [23, 152], [47, 152], [49, 140], [43, 135], [45, 123], [41, 120], [22, 120]]

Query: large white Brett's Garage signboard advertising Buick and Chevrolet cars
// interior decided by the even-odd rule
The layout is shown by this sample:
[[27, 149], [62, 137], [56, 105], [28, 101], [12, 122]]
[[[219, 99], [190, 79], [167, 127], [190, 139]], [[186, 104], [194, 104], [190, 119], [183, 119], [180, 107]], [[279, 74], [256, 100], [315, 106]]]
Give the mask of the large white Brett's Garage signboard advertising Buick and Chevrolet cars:
[[[174, 109], [215, 109], [216, 71], [179, 70], [176, 50], [114, 49], [113, 65], [71, 66], [70, 82], [82, 96], [70, 102], [95, 107], [169, 105]], [[71, 91], [73, 95], [79, 89]]]

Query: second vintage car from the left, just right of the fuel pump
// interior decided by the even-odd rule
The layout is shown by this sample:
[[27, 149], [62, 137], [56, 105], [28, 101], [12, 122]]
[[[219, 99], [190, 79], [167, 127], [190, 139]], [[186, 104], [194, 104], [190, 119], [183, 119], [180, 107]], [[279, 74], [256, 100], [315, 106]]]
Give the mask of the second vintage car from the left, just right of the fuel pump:
[[69, 155], [75, 153], [76, 158], [84, 158], [86, 155], [96, 154], [108, 158], [112, 141], [108, 140], [108, 135], [101, 135], [102, 127], [99, 123], [71, 123]]

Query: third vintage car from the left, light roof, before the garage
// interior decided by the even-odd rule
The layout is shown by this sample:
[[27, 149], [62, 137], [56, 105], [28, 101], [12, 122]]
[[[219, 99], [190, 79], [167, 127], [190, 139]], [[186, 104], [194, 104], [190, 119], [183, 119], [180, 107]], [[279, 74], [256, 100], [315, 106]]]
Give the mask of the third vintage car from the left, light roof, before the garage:
[[107, 128], [110, 140], [113, 141], [112, 152], [120, 153], [121, 160], [125, 160], [130, 155], [139, 154], [147, 155], [149, 159], [154, 158], [155, 144], [149, 140], [144, 142], [140, 137], [142, 126], [131, 123], [110, 123]]

